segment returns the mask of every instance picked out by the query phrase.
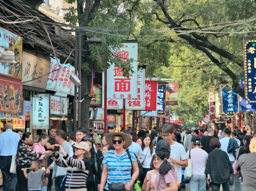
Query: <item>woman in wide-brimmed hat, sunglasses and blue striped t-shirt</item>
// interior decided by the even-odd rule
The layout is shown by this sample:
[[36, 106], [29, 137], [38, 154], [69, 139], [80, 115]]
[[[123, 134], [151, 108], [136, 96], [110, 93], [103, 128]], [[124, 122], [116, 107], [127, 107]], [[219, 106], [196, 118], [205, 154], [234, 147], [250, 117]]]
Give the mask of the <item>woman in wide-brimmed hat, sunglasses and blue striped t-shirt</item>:
[[114, 149], [108, 151], [103, 159], [100, 191], [112, 191], [114, 186], [123, 186], [122, 190], [130, 191], [139, 175], [134, 153], [126, 150], [132, 139], [125, 133], [112, 132], [106, 135], [106, 141]]

